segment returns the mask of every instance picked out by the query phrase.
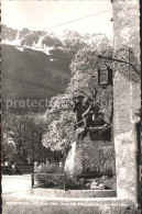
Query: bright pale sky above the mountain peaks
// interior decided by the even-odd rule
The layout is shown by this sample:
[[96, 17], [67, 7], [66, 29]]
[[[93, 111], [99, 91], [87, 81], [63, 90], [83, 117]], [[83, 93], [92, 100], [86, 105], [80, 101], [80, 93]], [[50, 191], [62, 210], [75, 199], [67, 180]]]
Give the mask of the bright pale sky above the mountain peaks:
[[105, 33], [112, 37], [110, 0], [1, 0], [1, 4], [2, 23], [13, 29], [46, 30], [56, 34], [70, 30], [90, 34]]

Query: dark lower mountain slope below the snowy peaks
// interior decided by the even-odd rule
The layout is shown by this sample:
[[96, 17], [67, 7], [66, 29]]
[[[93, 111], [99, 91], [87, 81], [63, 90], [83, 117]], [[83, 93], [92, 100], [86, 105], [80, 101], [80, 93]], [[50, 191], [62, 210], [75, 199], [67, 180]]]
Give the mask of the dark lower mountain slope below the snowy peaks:
[[[70, 79], [72, 57], [59, 48], [54, 52], [48, 56], [31, 48], [21, 52], [2, 44], [3, 99], [40, 100], [63, 92]], [[58, 58], [56, 53], [59, 53]]]

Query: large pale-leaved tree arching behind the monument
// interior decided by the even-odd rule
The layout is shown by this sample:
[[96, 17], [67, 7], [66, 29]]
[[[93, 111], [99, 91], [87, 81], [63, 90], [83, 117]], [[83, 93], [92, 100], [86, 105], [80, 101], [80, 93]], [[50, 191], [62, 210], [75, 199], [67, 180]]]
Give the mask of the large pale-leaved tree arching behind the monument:
[[[75, 132], [73, 100], [75, 97], [83, 95], [92, 102], [97, 100], [99, 102], [105, 101], [101, 108], [105, 109], [107, 121], [111, 121], [112, 108], [109, 108], [109, 101], [112, 101], [112, 86], [108, 86], [107, 88], [98, 86], [99, 66], [105, 65], [108, 68], [111, 65], [110, 61], [99, 59], [98, 56], [111, 56], [112, 48], [106, 36], [97, 36], [98, 38], [95, 41], [96, 45], [87, 45], [77, 52], [70, 65], [73, 76], [66, 92], [52, 98], [51, 109], [46, 110], [45, 119], [50, 122], [50, 125], [46, 134], [43, 136], [43, 145], [51, 147], [53, 150], [62, 149], [63, 145], [73, 140]], [[66, 106], [65, 101], [67, 101]]]

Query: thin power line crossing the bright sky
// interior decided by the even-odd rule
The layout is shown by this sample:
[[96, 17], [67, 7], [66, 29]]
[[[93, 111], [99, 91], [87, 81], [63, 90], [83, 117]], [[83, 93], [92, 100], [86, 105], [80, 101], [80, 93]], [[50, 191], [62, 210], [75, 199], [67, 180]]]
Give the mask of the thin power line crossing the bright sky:
[[52, 30], [52, 29], [55, 29], [55, 27], [58, 27], [58, 26], [63, 26], [63, 25], [66, 25], [66, 24], [73, 23], [73, 22], [78, 22], [78, 21], [80, 21], [80, 20], [85, 20], [85, 19], [91, 18], [91, 16], [95, 16], [95, 15], [99, 15], [99, 14], [101, 14], [101, 13], [109, 12], [109, 11], [112, 11], [112, 9], [109, 9], [109, 10], [106, 10], [106, 11], [101, 11], [101, 12], [98, 12], [98, 13], [92, 13], [92, 14], [90, 14], [90, 15], [83, 16], [83, 18], [78, 18], [78, 19], [76, 19], [76, 20], [72, 20], [72, 21], [68, 21], [68, 22], [64, 22], [64, 23], [61, 23], [61, 24], [51, 26], [51, 27], [48, 27], [48, 29], [45, 29], [45, 31], [48, 31], [48, 30]]

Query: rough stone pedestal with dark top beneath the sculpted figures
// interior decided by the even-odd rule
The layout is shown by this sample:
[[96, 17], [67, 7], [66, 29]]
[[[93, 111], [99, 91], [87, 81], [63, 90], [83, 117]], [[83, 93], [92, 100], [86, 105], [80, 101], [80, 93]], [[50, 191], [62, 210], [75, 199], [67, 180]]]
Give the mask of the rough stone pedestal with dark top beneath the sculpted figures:
[[110, 127], [77, 128], [65, 161], [66, 174], [95, 178], [114, 174], [114, 146], [108, 140], [110, 133]]

